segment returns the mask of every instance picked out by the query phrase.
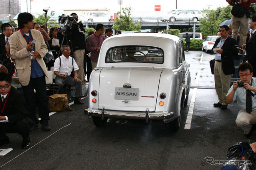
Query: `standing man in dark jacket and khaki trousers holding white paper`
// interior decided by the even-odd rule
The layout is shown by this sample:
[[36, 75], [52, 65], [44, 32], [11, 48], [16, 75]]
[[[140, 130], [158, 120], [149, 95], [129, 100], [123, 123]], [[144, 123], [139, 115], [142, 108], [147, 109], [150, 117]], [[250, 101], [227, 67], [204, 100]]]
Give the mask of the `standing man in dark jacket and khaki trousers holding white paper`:
[[230, 88], [231, 74], [235, 73], [233, 57], [237, 57], [236, 40], [228, 36], [229, 28], [224, 25], [220, 27], [220, 38], [216, 40], [214, 48], [218, 48], [214, 56], [214, 81], [218, 95], [218, 103], [214, 107], [227, 109], [226, 95]]

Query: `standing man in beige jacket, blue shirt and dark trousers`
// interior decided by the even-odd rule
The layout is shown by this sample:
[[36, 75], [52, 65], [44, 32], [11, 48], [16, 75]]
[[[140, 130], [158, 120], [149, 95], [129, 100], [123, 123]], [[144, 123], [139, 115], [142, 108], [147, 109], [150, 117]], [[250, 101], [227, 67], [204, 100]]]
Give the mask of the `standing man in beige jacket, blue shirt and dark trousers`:
[[[31, 130], [38, 128], [39, 122], [36, 118], [37, 101], [41, 118], [40, 123], [45, 131], [49, 131], [48, 120], [50, 118], [45, 81], [47, 68], [43, 60], [47, 46], [40, 31], [33, 29], [33, 16], [30, 13], [24, 12], [18, 15], [18, 26], [20, 30], [10, 36], [10, 53], [11, 57], [16, 60], [26, 110], [30, 112], [32, 120], [35, 122]], [[33, 43], [33, 40], [36, 40], [36, 42]]]

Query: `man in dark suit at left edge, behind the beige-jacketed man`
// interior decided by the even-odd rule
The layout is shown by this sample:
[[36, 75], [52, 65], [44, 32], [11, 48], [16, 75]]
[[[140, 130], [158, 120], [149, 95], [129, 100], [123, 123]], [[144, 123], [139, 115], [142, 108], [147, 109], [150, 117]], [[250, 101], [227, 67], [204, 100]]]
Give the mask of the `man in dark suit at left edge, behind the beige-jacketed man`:
[[4, 37], [0, 38], [0, 60], [6, 59], [5, 45], [9, 42], [9, 37], [12, 35], [12, 28], [10, 26], [4, 26], [3, 28]]

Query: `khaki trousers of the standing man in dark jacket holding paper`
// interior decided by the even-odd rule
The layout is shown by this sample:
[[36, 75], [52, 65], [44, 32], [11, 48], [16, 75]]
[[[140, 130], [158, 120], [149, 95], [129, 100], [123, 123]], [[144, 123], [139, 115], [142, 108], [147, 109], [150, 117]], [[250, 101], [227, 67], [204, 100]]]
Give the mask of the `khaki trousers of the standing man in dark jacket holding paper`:
[[226, 103], [226, 95], [230, 89], [231, 74], [225, 75], [222, 71], [221, 62], [217, 61], [214, 63], [214, 82], [215, 90], [219, 98], [218, 102], [222, 105], [228, 105]]

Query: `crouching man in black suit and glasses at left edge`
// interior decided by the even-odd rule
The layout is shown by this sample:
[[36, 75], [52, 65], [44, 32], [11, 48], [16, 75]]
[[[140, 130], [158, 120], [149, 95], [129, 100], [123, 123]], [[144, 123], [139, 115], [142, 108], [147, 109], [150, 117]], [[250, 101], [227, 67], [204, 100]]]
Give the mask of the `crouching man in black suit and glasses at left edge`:
[[22, 95], [12, 87], [12, 77], [7, 73], [0, 73], [0, 146], [10, 143], [7, 133], [22, 135], [22, 148], [30, 146], [31, 121], [24, 105]]

